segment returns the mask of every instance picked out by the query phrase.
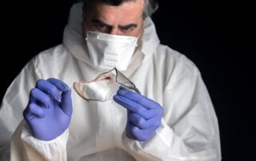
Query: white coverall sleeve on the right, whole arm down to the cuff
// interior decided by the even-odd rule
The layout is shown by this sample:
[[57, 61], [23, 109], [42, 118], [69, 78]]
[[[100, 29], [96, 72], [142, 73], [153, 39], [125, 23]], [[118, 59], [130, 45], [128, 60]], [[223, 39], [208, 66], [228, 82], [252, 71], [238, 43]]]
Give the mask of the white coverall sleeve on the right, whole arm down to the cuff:
[[139, 142], [123, 133], [122, 142], [135, 159], [221, 160], [214, 107], [201, 74], [186, 57], [170, 74], [162, 107], [165, 113], [161, 127], [150, 140]]

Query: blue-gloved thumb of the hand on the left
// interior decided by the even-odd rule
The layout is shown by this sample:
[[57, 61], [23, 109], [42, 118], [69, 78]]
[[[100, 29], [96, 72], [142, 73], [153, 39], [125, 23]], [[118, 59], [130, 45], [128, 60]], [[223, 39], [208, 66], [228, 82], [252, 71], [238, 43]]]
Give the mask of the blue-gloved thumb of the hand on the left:
[[72, 109], [72, 100], [71, 100], [71, 90], [62, 92], [61, 107], [63, 112], [65, 112], [68, 116], [72, 115], [73, 109]]

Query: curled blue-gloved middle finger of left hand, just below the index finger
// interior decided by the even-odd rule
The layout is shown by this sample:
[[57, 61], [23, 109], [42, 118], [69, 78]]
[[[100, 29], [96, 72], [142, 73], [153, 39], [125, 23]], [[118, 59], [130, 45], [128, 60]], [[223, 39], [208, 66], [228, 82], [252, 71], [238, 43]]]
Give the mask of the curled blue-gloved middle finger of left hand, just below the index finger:
[[42, 92], [45, 92], [46, 94], [52, 96], [55, 100], [61, 100], [62, 96], [60, 92], [58, 91], [58, 88], [51, 84], [49, 81], [45, 80], [38, 80], [36, 84], [36, 88], [42, 90]]

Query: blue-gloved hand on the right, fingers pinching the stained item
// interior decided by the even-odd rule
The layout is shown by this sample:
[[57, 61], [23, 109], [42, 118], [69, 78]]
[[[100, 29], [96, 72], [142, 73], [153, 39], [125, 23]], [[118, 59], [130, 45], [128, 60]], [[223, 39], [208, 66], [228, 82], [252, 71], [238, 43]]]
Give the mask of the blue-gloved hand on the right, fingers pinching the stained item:
[[154, 135], [163, 115], [163, 108], [158, 103], [122, 87], [114, 100], [127, 109], [127, 137], [146, 141]]

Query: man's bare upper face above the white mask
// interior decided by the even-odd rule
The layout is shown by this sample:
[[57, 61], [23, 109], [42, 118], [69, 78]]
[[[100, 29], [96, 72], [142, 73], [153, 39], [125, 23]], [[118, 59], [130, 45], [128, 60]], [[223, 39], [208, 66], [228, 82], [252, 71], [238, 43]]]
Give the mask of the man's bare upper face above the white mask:
[[138, 37], [143, 29], [143, 4], [144, 0], [124, 2], [120, 6], [95, 2], [85, 14], [86, 30]]

